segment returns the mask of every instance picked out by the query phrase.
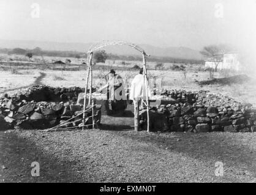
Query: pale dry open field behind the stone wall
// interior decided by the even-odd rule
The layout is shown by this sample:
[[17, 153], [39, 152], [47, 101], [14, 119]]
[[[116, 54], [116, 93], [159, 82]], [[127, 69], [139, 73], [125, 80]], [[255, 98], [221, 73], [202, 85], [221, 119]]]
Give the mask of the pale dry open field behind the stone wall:
[[[94, 86], [104, 85], [104, 79], [99, 80], [108, 73], [108, 69], [94, 70]], [[129, 83], [138, 70], [116, 70], [122, 76], [126, 83]], [[40, 79], [40, 83], [50, 85], [52, 87], [85, 87], [86, 71], [54, 71], [50, 69], [17, 69], [13, 73], [12, 69], [0, 71], [0, 93], [15, 93], [23, 87], [35, 84], [40, 73], [45, 76]], [[156, 76], [157, 82], [160, 82], [161, 88], [166, 89], [184, 89], [189, 91], [209, 90], [211, 93], [221, 93], [230, 98], [234, 98], [239, 102], [250, 102], [256, 106], [256, 85], [255, 78], [251, 77], [250, 82], [234, 83], [232, 85], [198, 85], [201, 80], [209, 79], [209, 72], [207, 71], [187, 71], [186, 78], [183, 71], [167, 70], [148, 70], [149, 77]], [[220, 73], [214, 73], [214, 77], [223, 77]]]

